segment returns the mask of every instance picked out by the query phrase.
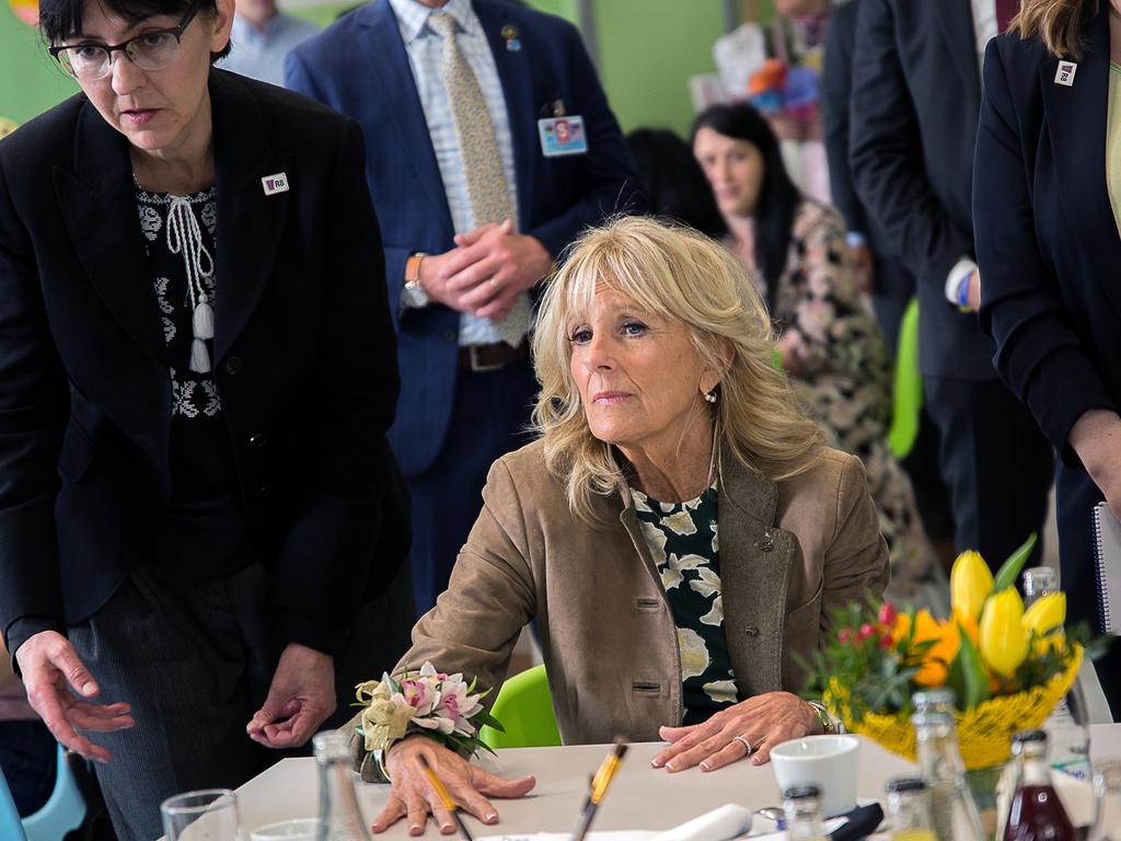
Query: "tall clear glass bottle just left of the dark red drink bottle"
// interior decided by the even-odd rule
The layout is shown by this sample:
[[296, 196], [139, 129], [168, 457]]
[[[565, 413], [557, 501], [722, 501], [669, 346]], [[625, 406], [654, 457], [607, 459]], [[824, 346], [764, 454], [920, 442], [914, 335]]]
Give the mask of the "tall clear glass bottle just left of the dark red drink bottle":
[[954, 717], [930, 710], [912, 715], [911, 723], [923, 779], [930, 792], [935, 837], [938, 841], [986, 841], [976, 803], [965, 783]]

